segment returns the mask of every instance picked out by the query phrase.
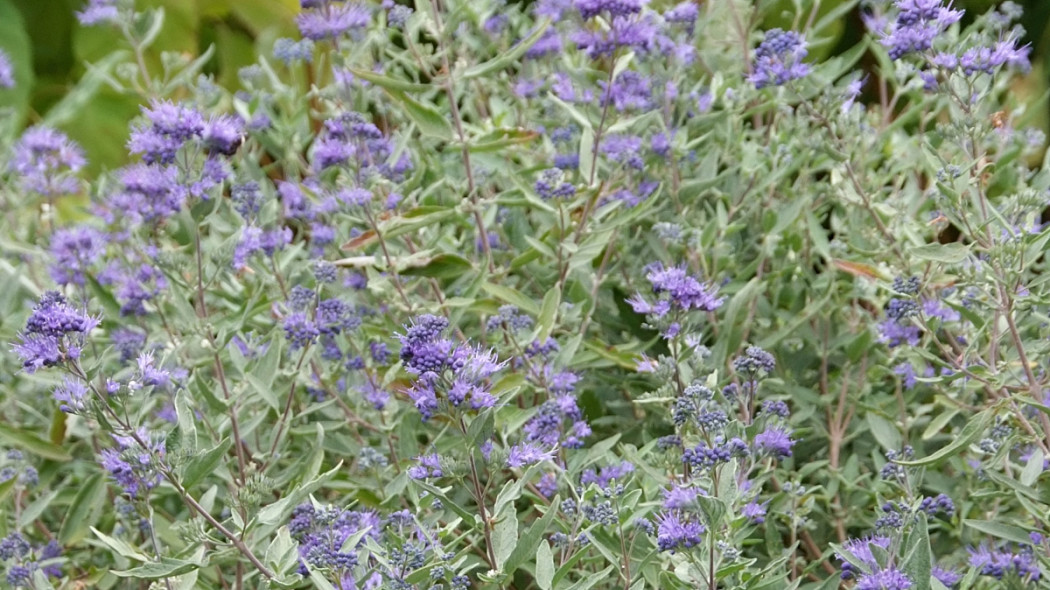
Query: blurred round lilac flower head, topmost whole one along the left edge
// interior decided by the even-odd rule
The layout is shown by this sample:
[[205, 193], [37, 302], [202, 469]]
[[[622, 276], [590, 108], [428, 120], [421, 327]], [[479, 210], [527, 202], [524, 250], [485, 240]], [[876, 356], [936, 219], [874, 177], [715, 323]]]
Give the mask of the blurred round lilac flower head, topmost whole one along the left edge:
[[57, 196], [77, 192], [76, 172], [86, 162], [83, 150], [65, 133], [37, 126], [19, 138], [8, 166], [25, 190]]

